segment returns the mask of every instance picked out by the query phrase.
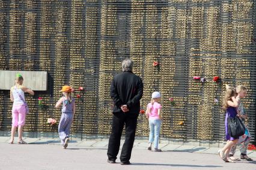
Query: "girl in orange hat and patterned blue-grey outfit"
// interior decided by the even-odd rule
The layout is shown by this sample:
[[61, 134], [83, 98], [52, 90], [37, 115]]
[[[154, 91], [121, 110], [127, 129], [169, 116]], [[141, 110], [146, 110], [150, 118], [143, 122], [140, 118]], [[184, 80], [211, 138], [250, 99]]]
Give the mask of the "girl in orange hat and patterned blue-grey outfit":
[[72, 87], [63, 86], [60, 92], [62, 92], [64, 96], [62, 96], [55, 105], [55, 108], [59, 108], [62, 104], [62, 114], [61, 120], [59, 120], [58, 132], [63, 148], [67, 148], [69, 143], [70, 128], [76, 112], [75, 99], [71, 96], [72, 91]]

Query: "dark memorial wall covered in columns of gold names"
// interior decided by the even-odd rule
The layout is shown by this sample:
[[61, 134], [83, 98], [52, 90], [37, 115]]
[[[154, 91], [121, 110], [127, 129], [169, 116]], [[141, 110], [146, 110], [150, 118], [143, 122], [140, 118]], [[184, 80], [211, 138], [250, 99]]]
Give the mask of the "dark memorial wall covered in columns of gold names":
[[[141, 110], [162, 93], [161, 138], [222, 141], [226, 83], [248, 88], [242, 102], [255, 138], [255, 13], [253, 0], [0, 1], [0, 69], [47, 71], [47, 90], [26, 95], [27, 132], [57, 132], [47, 119], [58, 123], [54, 106], [69, 84], [72, 133], [108, 135], [110, 83], [130, 57], [144, 82]], [[11, 107], [10, 91], [0, 90], [0, 130], [11, 128]], [[148, 132], [140, 114], [136, 133]]]

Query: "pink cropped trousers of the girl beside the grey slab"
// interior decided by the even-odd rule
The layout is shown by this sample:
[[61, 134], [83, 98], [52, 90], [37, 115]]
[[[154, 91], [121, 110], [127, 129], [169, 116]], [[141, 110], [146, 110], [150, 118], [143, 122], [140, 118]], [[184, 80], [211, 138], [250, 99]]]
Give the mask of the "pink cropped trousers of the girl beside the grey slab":
[[13, 125], [12, 126], [24, 126], [26, 119], [26, 107], [25, 105], [13, 106]]

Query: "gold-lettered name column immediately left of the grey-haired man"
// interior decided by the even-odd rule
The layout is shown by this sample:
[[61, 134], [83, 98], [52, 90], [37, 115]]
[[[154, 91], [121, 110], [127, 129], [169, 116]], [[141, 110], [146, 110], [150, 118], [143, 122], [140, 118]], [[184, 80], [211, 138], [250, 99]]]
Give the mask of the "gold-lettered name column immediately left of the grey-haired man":
[[[115, 2], [115, 1], [108, 1]], [[115, 40], [117, 36], [117, 6], [102, 2], [99, 72], [99, 133], [109, 134], [112, 124], [112, 99], [110, 84], [115, 70], [121, 71], [121, 62], [115, 60]], [[108, 37], [113, 37], [109, 38]]]

